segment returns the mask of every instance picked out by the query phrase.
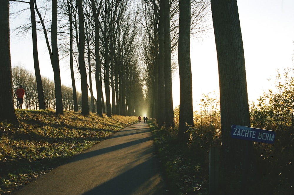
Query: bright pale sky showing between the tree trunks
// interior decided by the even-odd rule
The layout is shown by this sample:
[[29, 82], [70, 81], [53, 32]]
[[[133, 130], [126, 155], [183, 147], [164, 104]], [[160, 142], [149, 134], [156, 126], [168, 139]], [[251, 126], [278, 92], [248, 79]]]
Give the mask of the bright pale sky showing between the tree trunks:
[[[293, 67], [294, 1], [293, 0], [237, 0], [243, 38], [248, 100], [257, 102], [264, 91], [274, 89], [277, 69]], [[14, 26], [25, 22], [10, 19], [11, 63], [34, 71], [31, 34], [16, 36]], [[212, 24], [212, 19], [210, 18]], [[54, 81], [53, 70], [44, 40], [39, 40], [41, 75]], [[61, 83], [71, 87], [68, 61], [61, 60]], [[202, 94], [219, 91], [218, 64], [213, 29], [202, 40], [191, 38], [191, 66], [193, 77], [193, 109], [198, 109]], [[78, 76], [76, 74], [76, 76]], [[293, 75], [294, 76], [294, 75]], [[173, 106], [180, 102], [178, 71], [173, 74]], [[79, 90], [79, 88], [77, 87]], [[79, 90], [80, 91], [80, 90]]]

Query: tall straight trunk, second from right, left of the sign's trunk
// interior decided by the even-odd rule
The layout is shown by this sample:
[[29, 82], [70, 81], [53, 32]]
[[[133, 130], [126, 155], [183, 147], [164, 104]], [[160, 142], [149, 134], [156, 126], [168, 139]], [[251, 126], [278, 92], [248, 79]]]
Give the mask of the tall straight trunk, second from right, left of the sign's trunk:
[[188, 140], [185, 132], [193, 127], [192, 71], [190, 59], [191, 1], [180, 0], [178, 61], [180, 75], [179, 139]]

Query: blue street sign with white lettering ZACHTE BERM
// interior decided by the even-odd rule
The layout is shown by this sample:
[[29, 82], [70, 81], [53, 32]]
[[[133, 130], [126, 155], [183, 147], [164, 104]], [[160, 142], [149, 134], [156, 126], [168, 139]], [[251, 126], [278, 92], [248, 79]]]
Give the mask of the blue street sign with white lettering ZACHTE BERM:
[[257, 129], [253, 127], [232, 125], [231, 137], [250, 141], [273, 144], [275, 141], [275, 131]]

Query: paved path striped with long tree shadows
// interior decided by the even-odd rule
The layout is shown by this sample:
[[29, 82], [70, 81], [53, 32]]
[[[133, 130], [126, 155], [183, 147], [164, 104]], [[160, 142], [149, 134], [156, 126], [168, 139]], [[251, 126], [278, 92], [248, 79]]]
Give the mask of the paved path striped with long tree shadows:
[[18, 194], [166, 194], [147, 123], [136, 123], [15, 191]]

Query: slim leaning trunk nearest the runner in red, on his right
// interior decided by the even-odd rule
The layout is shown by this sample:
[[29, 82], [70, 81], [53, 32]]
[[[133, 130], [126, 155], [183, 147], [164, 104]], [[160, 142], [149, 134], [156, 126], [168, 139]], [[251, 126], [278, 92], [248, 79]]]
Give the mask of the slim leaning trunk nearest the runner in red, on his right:
[[34, 0], [30, 0], [30, 10], [31, 10], [31, 22], [32, 22], [34, 67], [35, 67], [35, 76], [36, 76], [37, 91], [38, 91], [38, 103], [39, 103], [39, 109], [46, 109], [45, 100], [44, 100], [43, 84], [42, 84], [40, 66], [39, 66]]

